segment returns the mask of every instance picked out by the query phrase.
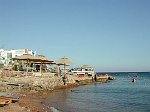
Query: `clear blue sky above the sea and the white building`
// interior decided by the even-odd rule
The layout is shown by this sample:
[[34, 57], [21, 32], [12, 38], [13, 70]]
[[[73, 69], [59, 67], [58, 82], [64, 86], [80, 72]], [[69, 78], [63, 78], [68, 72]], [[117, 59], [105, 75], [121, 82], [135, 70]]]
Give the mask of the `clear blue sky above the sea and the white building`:
[[0, 0], [0, 48], [99, 72], [150, 71], [150, 0]]

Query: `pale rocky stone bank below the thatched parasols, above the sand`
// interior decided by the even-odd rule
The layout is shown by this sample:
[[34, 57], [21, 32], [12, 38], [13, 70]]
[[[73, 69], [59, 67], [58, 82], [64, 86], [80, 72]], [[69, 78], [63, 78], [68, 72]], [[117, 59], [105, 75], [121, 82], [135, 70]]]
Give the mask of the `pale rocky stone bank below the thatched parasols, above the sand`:
[[[108, 76], [98, 77], [97, 81], [108, 80]], [[53, 90], [61, 88], [68, 84], [87, 84], [93, 82], [92, 77], [77, 77], [75, 75], [67, 75], [67, 80], [64, 83], [63, 77], [56, 76], [54, 73], [32, 74], [27, 76], [7, 76], [0, 79], [0, 91], [8, 90]]]

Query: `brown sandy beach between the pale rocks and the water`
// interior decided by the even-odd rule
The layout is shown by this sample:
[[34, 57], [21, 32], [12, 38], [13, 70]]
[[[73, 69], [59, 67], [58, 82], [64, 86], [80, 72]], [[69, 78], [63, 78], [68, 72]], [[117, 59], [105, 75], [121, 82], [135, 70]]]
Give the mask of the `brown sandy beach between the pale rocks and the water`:
[[[72, 88], [78, 85], [79, 84], [68, 84], [59, 88], [55, 88], [55, 90]], [[19, 101], [6, 105], [4, 107], [0, 107], [0, 112], [51, 112], [51, 110], [45, 105], [45, 99], [49, 95], [49, 93], [53, 91], [16, 92], [14, 94], [19, 97]]]

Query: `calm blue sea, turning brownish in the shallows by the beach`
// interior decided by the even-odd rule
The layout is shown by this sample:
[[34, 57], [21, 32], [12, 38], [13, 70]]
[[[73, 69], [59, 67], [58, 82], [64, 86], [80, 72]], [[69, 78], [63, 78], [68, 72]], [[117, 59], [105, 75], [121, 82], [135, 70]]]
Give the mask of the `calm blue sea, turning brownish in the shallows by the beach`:
[[150, 72], [107, 74], [115, 80], [50, 93], [49, 112], [150, 112]]

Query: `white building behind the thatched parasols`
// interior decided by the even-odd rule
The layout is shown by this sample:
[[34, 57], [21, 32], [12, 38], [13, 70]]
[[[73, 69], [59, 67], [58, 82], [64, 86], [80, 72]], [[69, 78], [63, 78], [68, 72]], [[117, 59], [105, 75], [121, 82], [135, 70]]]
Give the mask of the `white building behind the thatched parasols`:
[[21, 56], [24, 54], [35, 55], [35, 51], [29, 49], [13, 49], [13, 50], [4, 50], [0, 49], [0, 61], [3, 62], [5, 66], [7, 66], [12, 60], [12, 58], [16, 56]]

